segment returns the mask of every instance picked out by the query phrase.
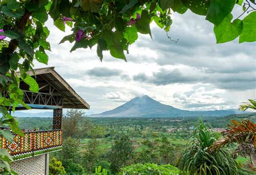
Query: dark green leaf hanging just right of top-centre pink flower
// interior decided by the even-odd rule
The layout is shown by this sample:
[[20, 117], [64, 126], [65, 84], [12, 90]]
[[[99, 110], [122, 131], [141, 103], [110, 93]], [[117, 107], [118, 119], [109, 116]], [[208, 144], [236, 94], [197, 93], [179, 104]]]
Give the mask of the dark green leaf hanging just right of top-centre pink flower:
[[140, 19], [136, 22], [136, 27], [138, 32], [142, 34], [150, 34], [151, 36], [151, 31], [150, 31], [150, 16], [149, 13], [146, 10], [142, 11], [142, 16]]

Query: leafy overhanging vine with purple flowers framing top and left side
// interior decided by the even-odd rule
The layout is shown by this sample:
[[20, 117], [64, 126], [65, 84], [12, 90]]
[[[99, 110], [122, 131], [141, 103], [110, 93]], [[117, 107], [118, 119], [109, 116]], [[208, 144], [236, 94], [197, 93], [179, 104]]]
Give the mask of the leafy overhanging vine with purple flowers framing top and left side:
[[[102, 1], [102, 0], [4, 0], [0, 2], [0, 111], [1, 125], [8, 124], [13, 132], [23, 136], [18, 123], [8, 110], [15, 111], [23, 102], [19, 88], [22, 80], [34, 93], [39, 91], [36, 81], [27, 71], [33, 69], [33, 61], [48, 63], [45, 51], [51, 51], [46, 40], [50, 34], [45, 22], [49, 17], [59, 30], [66, 25], [73, 33], [65, 36], [60, 43], [74, 43], [71, 52], [77, 48], [97, 45], [97, 55], [103, 59], [103, 51], [109, 51], [114, 58], [126, 60], [124, 52], [138, 39], [138, 32], [150, 34], [150, 23], [154, 21], [168, 32], [172, 24], [172, 12], [185, 13], [187, 9], [206, 16], [214, 24], [217, 43], [225, 43], [239, 37], [239, 43], [256, 41], [255, 2], [246, 0], [158, 0], [158, 1]], [[231, 12], [235, 4], [242, 5], [244, 12], [232, 21]], [[246, 16], [240, 19], [242, 15]], [[170, 40], [171, 37], [167, 36]], [[16, 71], [19, 70], [19, 76]], [[10, 108], [12, 106], [12, 108]], [[1, 136], [8, 137], [8, 131]], [[11, 141], [11, 137], [8, 137]], [[2, 153], [2, 152], [1, 152]], [[2, 154], [3, 157], [4, 155]], [[10, 159], [1, 159], [3, 169], [10, 172]]]

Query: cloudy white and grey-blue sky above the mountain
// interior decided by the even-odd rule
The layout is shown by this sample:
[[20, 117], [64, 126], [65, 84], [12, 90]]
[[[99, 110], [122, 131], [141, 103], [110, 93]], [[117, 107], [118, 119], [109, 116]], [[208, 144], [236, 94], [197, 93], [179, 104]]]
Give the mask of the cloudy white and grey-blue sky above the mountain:
[[[235, 15], [234, 15], [235, 16]], [[70, 33], [59, 31], [49, 20], [51, 43], [48, 66], [56, 71], [90, 105], [91, 112], [113, 109], [133, 97], [149, 95], [173, 107], [188, 110], [237, 108], [256, 99], [256, 44], [238, 44], [238, 39], [215, 44], [213, 25], [187, 11], [173, 13], [168, 33], [152, 23], [152, 37], [139, 34], [129, 48], [127, 62], [104, 53], [96, 46], [70, 53], [72, 45], [59, 41]], [[46, 67], [36, 63], [35, 68]]]

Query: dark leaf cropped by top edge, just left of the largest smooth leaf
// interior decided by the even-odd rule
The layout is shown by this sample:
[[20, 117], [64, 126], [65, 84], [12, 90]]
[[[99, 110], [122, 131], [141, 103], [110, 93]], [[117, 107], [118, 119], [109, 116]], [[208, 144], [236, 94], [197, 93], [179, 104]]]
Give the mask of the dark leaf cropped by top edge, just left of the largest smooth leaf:
[[205, 0], [182, 0], [186, 8], [190, 9], [197, 15], [206, 15], [210, 1]]

